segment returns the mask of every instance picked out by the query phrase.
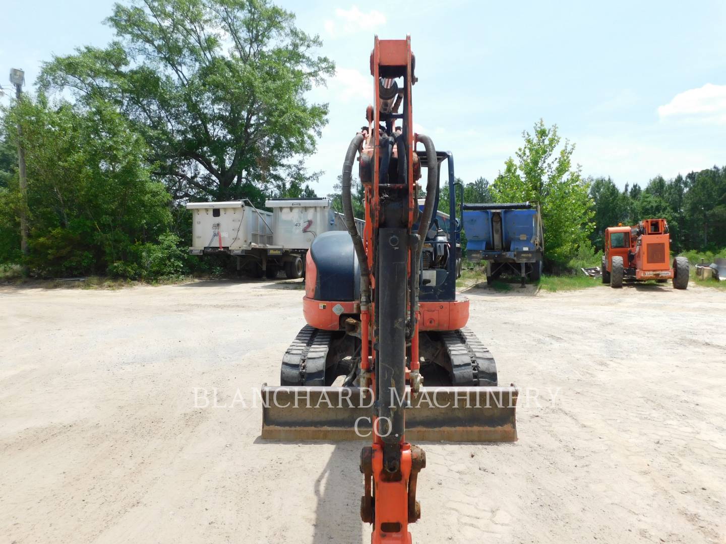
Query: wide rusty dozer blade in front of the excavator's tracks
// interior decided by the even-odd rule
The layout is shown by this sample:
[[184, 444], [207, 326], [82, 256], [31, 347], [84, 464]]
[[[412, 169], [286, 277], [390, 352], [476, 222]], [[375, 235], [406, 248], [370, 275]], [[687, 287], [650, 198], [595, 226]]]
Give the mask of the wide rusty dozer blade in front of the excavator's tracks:
[[[422, 387], [407, 397], [406, 440], [514, 442], [517, 395], [514, 386]], [[370, 390], [263, 386], [262, 401], [266, 440], [370, 440]]]

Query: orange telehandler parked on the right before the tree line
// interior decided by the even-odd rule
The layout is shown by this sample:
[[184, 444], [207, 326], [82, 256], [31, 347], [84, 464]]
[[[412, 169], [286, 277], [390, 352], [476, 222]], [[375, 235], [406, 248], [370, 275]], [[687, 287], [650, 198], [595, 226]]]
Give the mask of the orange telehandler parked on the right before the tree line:
[[635, 226], [605, 228], [603, 284], [623, 287], [624, 280], [673, 280], [673, 287], [688, 287], [688, 259], [676, 257], [669, 266], [670, 235], [665, 219], [645, 219]]

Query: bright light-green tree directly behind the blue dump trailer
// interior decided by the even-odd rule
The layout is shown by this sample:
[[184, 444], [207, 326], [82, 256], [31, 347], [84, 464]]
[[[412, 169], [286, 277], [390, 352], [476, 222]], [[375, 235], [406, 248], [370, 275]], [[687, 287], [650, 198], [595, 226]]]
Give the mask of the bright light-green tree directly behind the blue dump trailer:
[[590, 250], [592, 200], [579, 165], [572, 165], [574, 144], [560, 147], [557, 125], [541, 119], [533, 133], [522, 134], [524, 144], [499, 172], [492, 195], [495, 202], [539, 202], [544, 225], [545, 259], [568, 263], [580, 250]]

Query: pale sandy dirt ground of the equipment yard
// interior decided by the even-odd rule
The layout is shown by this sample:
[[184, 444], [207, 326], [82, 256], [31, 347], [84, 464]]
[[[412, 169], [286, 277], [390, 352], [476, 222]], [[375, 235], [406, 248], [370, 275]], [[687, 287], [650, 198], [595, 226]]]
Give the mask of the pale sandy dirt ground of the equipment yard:
[[[301, 287], [0, 289], [0, 543], [370, 542], [362, 443], [250, 405]], [[726, 293], [465, 295], [519, 440], [425, 444], [415, 543], [726, 542]]]

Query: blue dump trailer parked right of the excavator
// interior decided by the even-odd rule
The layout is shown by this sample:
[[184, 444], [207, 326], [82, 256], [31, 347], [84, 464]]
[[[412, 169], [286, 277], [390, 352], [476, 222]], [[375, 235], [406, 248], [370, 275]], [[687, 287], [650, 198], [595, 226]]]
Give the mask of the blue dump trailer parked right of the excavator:
[[466, 233], [466, 254], [475, 263], [486, 261], [486, 281], [502, 273], [526, 279], [542, 276], [544, 237], [539, 205], [465, 204], [462, 218]]

